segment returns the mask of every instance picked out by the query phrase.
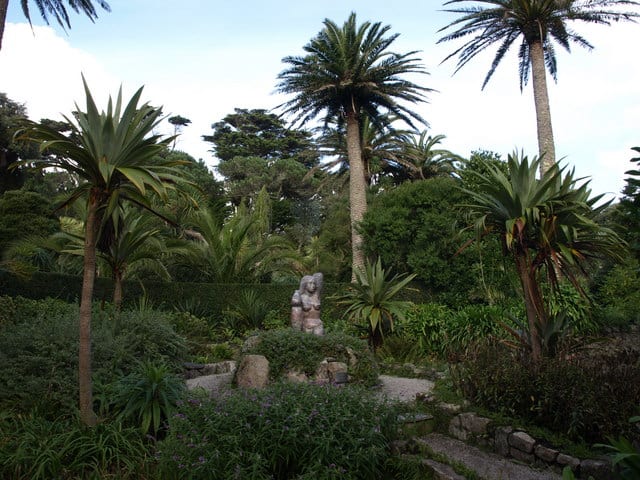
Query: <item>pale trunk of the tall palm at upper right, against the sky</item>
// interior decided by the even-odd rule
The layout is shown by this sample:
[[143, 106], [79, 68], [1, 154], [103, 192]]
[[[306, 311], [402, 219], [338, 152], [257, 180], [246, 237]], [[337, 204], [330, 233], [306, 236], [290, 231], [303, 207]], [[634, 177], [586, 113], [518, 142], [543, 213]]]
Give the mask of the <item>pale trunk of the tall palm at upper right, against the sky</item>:
[[531, 78], [533, 100], [536, 105], [536, 125], [538, 128], [538, 153], [540, 176], [544, 175], [556, 163], [556, 149], [551, 127], [551, 107], [547, 90], [547, 71], [544, 65], [544, 50], [540, 42], [529, 45], [531, 54]]

